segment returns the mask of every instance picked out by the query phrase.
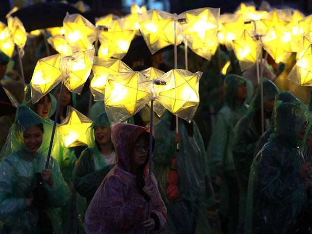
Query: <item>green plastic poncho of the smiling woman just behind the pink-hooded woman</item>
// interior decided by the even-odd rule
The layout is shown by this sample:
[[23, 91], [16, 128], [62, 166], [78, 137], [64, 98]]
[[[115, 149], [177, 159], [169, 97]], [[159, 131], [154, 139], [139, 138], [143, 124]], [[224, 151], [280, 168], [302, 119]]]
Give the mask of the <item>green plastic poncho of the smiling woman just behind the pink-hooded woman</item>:
[[91, 202], [93, 195], [97, 192], [107, 173], [116, 165], [107, 165], [105, 159], [99, 152], [94, 137], [94, 127], [111, 127], [106, 113], [96, 117], [86, 132], [88, 148], [82, 151], [73, 171], [73, 182], [76, 191], [87, 198], [87, 204]]

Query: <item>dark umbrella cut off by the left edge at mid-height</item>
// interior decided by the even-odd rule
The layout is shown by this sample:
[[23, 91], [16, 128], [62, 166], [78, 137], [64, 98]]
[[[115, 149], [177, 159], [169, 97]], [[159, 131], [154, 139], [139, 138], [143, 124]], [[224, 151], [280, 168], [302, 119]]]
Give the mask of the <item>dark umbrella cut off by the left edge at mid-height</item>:
[[16, 112], [17, 100], [2, 85], [0, 85], [0, 117], [13, 115]]

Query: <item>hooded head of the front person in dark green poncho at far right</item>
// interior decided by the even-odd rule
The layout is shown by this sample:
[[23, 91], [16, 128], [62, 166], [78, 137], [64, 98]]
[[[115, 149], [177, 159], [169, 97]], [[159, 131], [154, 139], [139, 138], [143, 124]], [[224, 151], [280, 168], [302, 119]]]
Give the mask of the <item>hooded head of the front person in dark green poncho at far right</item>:
[[311, 113], [304, 108], [292, 103], [281, 103], [276, 106], [274, 113], [273, 138], [290, 146], [296, 145], [302, 125], [311, 119]]

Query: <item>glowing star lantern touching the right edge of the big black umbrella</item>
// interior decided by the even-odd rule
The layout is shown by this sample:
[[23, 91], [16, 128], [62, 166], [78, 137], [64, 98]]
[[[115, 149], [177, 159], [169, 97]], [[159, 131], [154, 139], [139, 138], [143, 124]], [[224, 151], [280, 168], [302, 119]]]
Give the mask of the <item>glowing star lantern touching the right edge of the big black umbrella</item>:
[[65, 38], [75, 51], [89, 50], [97, 39], [96, 27], [80, 14], [67, 14], [63, 20]]

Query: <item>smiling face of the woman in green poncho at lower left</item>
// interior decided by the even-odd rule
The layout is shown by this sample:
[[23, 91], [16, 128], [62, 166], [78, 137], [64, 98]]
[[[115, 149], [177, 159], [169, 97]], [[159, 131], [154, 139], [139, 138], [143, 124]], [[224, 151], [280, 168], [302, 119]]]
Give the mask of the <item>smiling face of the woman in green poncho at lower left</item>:
[[24, 131], [24, 143], [28, 152], [36, 156], [37, 150], [42, 144], [43, 133], [36, 125], [27, 128]]

